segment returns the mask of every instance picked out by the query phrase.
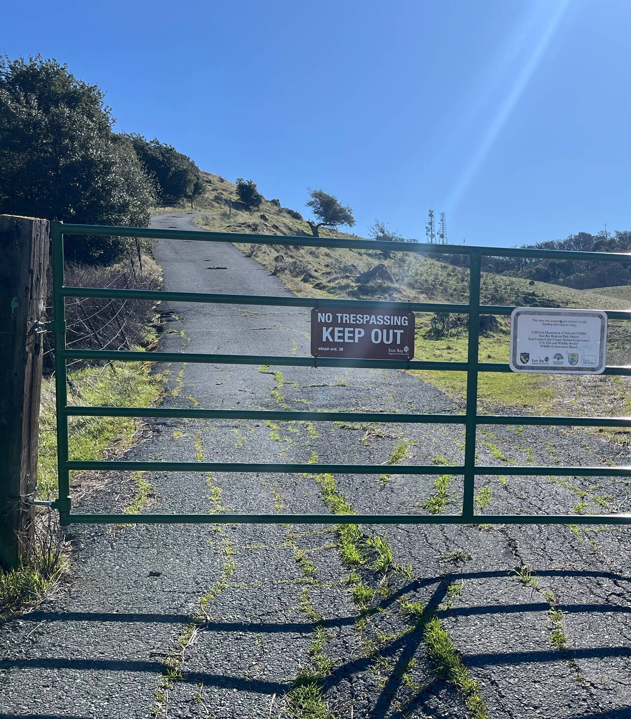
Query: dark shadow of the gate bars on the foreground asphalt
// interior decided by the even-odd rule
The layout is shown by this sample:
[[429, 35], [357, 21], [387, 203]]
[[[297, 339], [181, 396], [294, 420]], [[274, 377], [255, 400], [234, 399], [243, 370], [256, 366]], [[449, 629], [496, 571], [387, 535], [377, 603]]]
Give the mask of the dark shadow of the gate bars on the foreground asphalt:
[[[543, 570], [535, 572], [537, 577], [593, 577], [596, 579], [611, 579], [617, 581], [631, 581], [631, 577], [625, 577], [621, 574], [613, 572], [595, 572], [595, 571], [577, 571], [577, 570]], [[333, 669], [332, 673], [324, 682], [324, 690], [340, 684], [344, 679], [353, 677], [354, 674], [365, 672], [371, 667], [371, 663], [376, 659], [378, 654], [381, 657], [393, 658], [396, 656], [396, 664], [394, 669], [389, 673], [388, 680], [383, 686], [378, 699], [376, 700], [370, 715], [367, 719], [378, 719], [388, 713], [394, 697], [401, 687], [401, 674], [407, 667], [409, 661], [417, 653], [423, 641], [423, 633], [428, 620], [433, 615], [438, 616], [458, 616], [466, 617], [469, 615], [481, 615], [492, 613], [519, 613], [542, 611], [545, 612], [550, 608], [548, 603], [527, 603], [527, 604], [510, 604], [510, 605], [486, 605], [476, 607], [462, 607], [440, 610], [440, 605], [445, 600], [449, 585], [457, 580], [466, 579], [484, 579], [489, 577], [507, 577], [508, 572], [453, 572], [445, 574], [442, 577], [432, 577], [427, 579], [413, 580], [408, 582], [399, 590], [393, 592], [387, 598], [381, 600], [376, 607], [371, 608], [369, 614], [381, 612], [384, 609], [394, 605], [401, 597], [413, 595], [416, 590], [422, 587], [435, 586], [432, 597], [425, 605], [423, 615], [411, 626], [411, 630], [403, 636], [399, 636], [391, 641], [387, 646], [375, 651], [374, 654], [361, 656], [346, 664]], [[582, 604], [582, 605], [558, 605], [558, 608], [567, 613], [606, 613], [606, 612], [622, 612], [631, 613], [631, 607], [610, 604]], [[200, 624], [200, 629], [204, 631], [222, 631], [222, 632], [248, 632], [248, 633], [304, 633], [313, 631], [316, 626], [324, 626], [325, 628], [335, 628], [341, 626], [349, 626], [354, 624], [357, 617], [355, 615], [348, 617], [340, 617], [334, 619], [325, 619], [318, 623], [312, 622], [292, 622], [292, 623], [265, 623], [265, 622], [243, 622], [243, 621], [205, 621]], [[35, 611], [24, 615], [22, 620], [32, 622], [55, 622], [55, 621], [94, 621], [94, 622], [145, 622], [145, 623], [181, 623], [189, 624], [191, 616], [181, 614], [155, 614], [155, 613], [89, 613], [89, 612], [46, 612]], [[573, 659], [586, 658], [607, 658], [620, 657], [630, 655], [628, 647], [594, 647], [586, 649], [567, 649], [558, 651], [550, 647], [547, 651], [515, 651], [505, 653], [489, 652], [484, 654], [466, 654], [463, 661], [468, 667], [484, 667], [499, 664], [518, 664], [520, 662], [545, 662], [557, 661], [559, 658], [569, 655]], [[162, 661], [137, 661], [125, 659], [19, 659], [16, 661], [4, 660], [0, 661], [0, 669], [21, 669], [21, 668], [42, 668], [42, 669], [75, 669], [85, 671], [104, 671], [104, 672], [152, 672], [156, 675], [163, 674], [164, 665]], [[225, 674], [206, 674], [204, 672], [183, 672], [183, 682], [189, 684], [200, 684], [204, 686], [214, 686], [227, 690], [242, 690], [249, 692], [258, 692], [262, 694], [283, 695], [289, 692], [294, 686], [291, 682], [273, 682], [265, 679], [246, 679], [240, 677], [230, 677]], [[420, 705], [424, 697], [431, 694], [438, 684], [444, 683], [445, 679], [436, 676], [435, 682], [430, 686], [418, 692], [414, 697], [410, 697], [407, 702], [408, 710]], [[627, 712], [628, 709], [628, 712]], [[625, 713], [627, 712], [627, 713]], [[599, 719], [620, 719], [623, 716], [631, 717], [631, 707], [621, 707], [610, 712], [598, 714], [576, 715], [572, 719], [589, 719], [590, 717], [598, 717]], [[0, 714], [0, 719], [13, 718], [19, 715]], [[61, 719], [55, 715], [27, 715], [31, 719]], [[85, 719], [83, 717], [69, 717], [68, 719]]]

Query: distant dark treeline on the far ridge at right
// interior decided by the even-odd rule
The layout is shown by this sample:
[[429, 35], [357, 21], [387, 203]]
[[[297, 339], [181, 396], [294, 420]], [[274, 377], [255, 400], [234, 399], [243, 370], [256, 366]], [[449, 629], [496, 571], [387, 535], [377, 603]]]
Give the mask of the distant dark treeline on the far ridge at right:
[[[617, 231], [613, 235], [600, 232], [578, 232], [566, 239], [525, 244], [532, 249], [563, 249], [581, 252], [630, 252], [631, 232]], [[451, 265], [466, 265], [466, 255], [452, 255], [446, 260]], [[589, 290], [594, 287], [631, 285], [631, 264], [620, 262], [584, 262], [582, 260], [531, 260], [525, 257], [483, 257], [484, 272], [499, 273], [507, 277], [520, 277], [537, 282]]]

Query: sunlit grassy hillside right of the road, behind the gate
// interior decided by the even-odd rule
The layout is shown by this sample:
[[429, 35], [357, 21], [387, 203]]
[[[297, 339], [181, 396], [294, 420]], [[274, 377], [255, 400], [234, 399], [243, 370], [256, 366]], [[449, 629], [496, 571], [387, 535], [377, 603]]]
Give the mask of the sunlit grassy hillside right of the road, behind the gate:
[[[235, 185], [208, 175], [209, 194], [221, 193], [234, 198]], [[216, 189], [217, 188], [217, 189]], [[258, 211], [234, 209], [230, 214], [219, 203], [212, 214], [199, 216], [196, 224], [204, 229], [222, 232], [311, 235], [309, 226], [296, 214], [289, 214], [276, 203], [263, 202]], [[291, 211], [290, 211], [291, 212]], [[357, 237], [335, 231], [322, 231], [323, 237]], [[362, 299], [396, 299], [411, 301], [468, 301], [468, 269], [454, 267], [430, 257], [409, 252], [382, 252], [350, 249], [283, 247], [282, 245], [238, 245], [280, 278], [294, 293], [312, 297], [347, 297]], [[376, 265], [386, 265], [393, 282], [360, 283], [358, 275]], [[612, 288], [605, 288], [611, 290]], [[619, 289], [619, 288], [618, 288]], [[631, 289], [631, 288], [630, 288]], [[631, 296], [631, 293], [630, 293]], [[587, 292], [522, 278], [483, 273], [481, 298], [484, 304], [539, 307], [576, 307], [623, 309], [628, 303], [622, 296], [605, 295], [604, 290]], [[433, 318], [436, 320], [436, 318]], [[416, 359], [466, 359], [466, 317], [450, 316], [447, 331], [436, 332], [431, 313], [417, 313]], [[609, 323], [608, 362], [631, 362], [631, 326]], [[507, 362], [509, 356], [509, 319], [498, 318], [489, 324], [481, 337], [479, 357], [483, 362]], [[423, 380], [463, 398], [466, 376], [461, 372], [415, 372]], [[487, 374], [480, 376], [479, 398], [482, 406], [494, 411], [527, 411], [541, 413], [573, 412], [624, 414], [627, 403], [627, 380], [620, 377], [576, 377], [568, 375]]]

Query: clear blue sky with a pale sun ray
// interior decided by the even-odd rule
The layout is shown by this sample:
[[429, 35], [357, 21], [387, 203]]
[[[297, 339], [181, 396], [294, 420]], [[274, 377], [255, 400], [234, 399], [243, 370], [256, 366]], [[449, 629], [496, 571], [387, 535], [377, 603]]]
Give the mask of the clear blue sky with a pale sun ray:
[[512, 246], [631, 229], [628, 0], [35, 0], [0, 51], [97, 83], [119, 131], [307, 188], [425, 238]]

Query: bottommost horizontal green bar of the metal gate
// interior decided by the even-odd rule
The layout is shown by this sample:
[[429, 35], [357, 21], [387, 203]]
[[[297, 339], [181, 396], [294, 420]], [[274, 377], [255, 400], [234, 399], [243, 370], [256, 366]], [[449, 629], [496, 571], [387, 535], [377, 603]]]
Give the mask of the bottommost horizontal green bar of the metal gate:
[[68, 524], [631, 524], [631, 514], [69, 514]]

